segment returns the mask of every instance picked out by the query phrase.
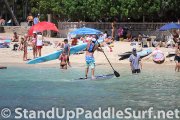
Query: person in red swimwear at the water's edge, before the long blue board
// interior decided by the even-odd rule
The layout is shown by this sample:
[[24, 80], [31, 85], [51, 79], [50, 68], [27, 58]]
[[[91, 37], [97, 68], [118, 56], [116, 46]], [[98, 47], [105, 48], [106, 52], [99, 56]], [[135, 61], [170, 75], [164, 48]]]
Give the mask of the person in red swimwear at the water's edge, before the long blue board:
[[60, 62], [60, 68], [61, 69], [67, 69], [67, 56], [65, 51], [62, 52], [62, 54], [59, 56]]

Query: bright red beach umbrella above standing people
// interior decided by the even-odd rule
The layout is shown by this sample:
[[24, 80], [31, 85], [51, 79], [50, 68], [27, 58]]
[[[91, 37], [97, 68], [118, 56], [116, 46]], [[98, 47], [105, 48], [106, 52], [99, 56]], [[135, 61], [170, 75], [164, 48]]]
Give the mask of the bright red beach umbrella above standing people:
[[55, 32], [59, 32], [59, 30], [57, 29], [57, 27], [55, 26], [54, 23], [51, 22], [39, 22], [38, 24], [32, 26], [29, 30], [28, 30], [28, 35], [33, 35], [33, 31], [40, 31], [43, 32], [45, 30], [52, 30]]

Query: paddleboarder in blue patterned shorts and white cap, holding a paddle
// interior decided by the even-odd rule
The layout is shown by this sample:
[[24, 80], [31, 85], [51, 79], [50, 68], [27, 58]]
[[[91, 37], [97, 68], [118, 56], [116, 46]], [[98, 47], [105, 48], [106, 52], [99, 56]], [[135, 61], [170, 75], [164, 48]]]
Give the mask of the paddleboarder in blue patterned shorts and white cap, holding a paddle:
[[103, 52], [102, 49], [99, 48], [99, 44], [96, 44], [96, 38], [92, 38], [89, 40], [87, 47], [86, 47], [86, 70], [85, 70], [85, 79], [87, 79], [89, 67], [91, 68], [91, 78], [95, 79], [94, 72], [95, 72], [95, 59], [94, 59], [94, 52], [98, 50]]

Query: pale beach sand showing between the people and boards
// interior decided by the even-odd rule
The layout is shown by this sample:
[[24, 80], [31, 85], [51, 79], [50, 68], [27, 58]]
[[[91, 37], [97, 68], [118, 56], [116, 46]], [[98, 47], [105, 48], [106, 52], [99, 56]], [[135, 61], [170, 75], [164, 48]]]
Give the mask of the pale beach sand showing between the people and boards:
[[[0, 33], [0, 36], [12, 36], [12, 34], [9, 33]], [[64, 39], [63, 38], [49, 38], [49, 37], [45, 37], [45, 40], [50, 41], [52, 43], [52, 45], [50, 46], [43, 46], [42, 48], [42, 55], [46, 55], [49, 53], [52, 53], [56, 50], [59, 50], [60, 48], [55, 48], [55, 43], [57, 42], [61, 42]], [[26, 64], [26, 61], [23, 61], [22, 56], [23, 56], [23, 51], [12, 51], [12, 47], [13, 47], [14, 43], [11, 43], [10, 48], [1, 48], [0, 49], [0, 64], [1, 66], [6, 66], [6, 64]], [[33, 58], [33, 54], [32, 54], [32, 50], [30, 50], [31, 47], [29, 47], [28, 50], [28, 59], [32, 59]], [[128, 64], [129, 61], [128, 59], [125, 60], [119, 60], [119, 56], [118, 54], [122, 54], [128, 51], [132, 50], [132, 46], [130, 45], [130, 42], [119, 42], [116, 41], [114, 42], [114, 47], [112, 47], [112, 52], [109, 52], [107, 48], [103, 48], [104, 52], [106, 53], [107, 57], [109, 58], [109, 60], [111, 61], [112, 64]], [[155, 48], [151, 48], [152, 50], [154, 50]], [[175, 51], [175, 49], [172, 48], [163, 48], [161, 47], [160, 50], [163, 51], [163, 53], [166, 55], [168, 55], [168, 52], [173, 52]], [[106, 60], [105, 56], [103, 53], [101, 52], [95, 52], [94, 54], [95, 56], [95, 60], [97, 64], [107, 64], [108, 61]], [[70, 61], [73, 64], [84, 64], [85, 60], [84, 60], [85, 54], [75, 54], [75, 55], [71, 55], [70, 56]], [[152, 58], [146, 59], [147, 57], [143, 58], [143, 63], [145, 64], [155, 64], [152, 60]], [[41, 63], [41, 64], [59, 64], [59, 60], [53, 60], [53, 61], [49, 61], [49, 62], [45, 62], [45, 63]], [[163, 63], [163, 65], [174, 65], [174, 61], [173, 58], [166, 58], [165, 62]]]

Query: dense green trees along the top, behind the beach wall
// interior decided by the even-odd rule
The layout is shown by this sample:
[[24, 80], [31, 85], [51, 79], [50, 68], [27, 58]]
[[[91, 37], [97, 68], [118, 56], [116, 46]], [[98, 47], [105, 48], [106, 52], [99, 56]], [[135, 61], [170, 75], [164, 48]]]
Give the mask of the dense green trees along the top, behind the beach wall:
[[[13, 5], [14, 0], [8, 0]], [[112, 21], [132, 18], [134, 21], [177, 20], [180, 17], [179, 0], [16, 0], [17, 16], [40, 13], [58, 15], [61, 21]], [[28, 2], [28, 7], [25, 3]], [[25, 9], [26, 8], [26, 9]], [[26, 11], [25, 11], [26, 10]], [[122, 20], [122, 19], [120, 19]]]

